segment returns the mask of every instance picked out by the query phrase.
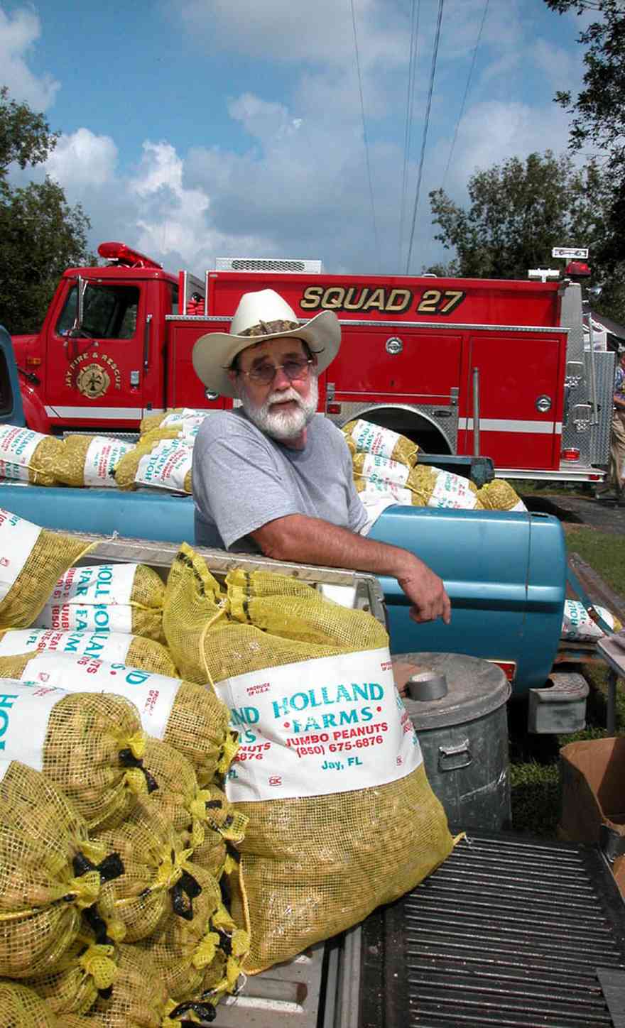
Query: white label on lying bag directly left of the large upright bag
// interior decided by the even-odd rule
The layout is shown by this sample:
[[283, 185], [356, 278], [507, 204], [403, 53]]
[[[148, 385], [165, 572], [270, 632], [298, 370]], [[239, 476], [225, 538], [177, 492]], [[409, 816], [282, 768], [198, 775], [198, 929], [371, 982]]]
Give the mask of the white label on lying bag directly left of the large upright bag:
[[68, 693], [113, 693], [131, 700], [139, 710], [148, 735], [162, 739], [172, 712], [180, 678], [152, 674], [123, 663], [108, 663], [89, 657], [41, 653], [32, 657], [22, 672], [22, 682], [60, 686]]

